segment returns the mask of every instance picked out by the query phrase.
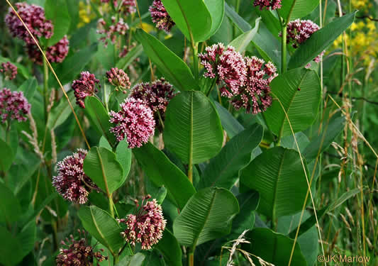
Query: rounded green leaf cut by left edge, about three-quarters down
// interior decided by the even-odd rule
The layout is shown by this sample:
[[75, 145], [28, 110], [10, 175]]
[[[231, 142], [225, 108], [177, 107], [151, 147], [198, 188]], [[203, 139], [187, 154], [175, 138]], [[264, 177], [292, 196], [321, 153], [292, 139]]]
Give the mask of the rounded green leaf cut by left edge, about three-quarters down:
[[[4, 155], [1, 157], [4, 157]], [[20, 202], [11, 192], [11, 189], [2, 182], [0, 182], [0, 214], [0, 221], [8, 221], [9, 223], [18, 221], [21, 216]]]

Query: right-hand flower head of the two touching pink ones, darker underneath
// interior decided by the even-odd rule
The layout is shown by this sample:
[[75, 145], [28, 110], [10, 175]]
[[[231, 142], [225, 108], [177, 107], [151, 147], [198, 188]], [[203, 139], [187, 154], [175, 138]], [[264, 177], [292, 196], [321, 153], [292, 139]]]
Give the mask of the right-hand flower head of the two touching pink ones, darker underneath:
[[269, 84], [277, 77], [277, 69], [272, 62], [257, 57], [245, 57], [247, 66], [247, 80], [239, 88], [231, 103], [235, 109], [245, 108], [247, 113], [260, 113], [266, 111], [272, 104]]

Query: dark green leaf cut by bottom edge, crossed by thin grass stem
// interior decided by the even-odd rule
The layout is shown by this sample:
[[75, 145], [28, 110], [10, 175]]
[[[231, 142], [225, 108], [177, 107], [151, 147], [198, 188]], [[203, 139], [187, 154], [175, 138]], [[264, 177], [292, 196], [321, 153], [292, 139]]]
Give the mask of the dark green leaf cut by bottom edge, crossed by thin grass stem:
[[[255, 228], [245, 235], [250, 243], [242, 245], [242, 249], [261, 257], [266, 262], [270, 262], [275, 266], [289, 265], [291, 248], [294, 245], [294, 240], [287, 238], [281, 233], [274, 233], [267, 228]], [[256, 257], [252, 260], [258, 264]], [[291, 258], [291, 266], [306, 266], [307, 262], [304, 255], [301, 253], [299, 244], [296, 243], [294, 248], [293, 257]]]

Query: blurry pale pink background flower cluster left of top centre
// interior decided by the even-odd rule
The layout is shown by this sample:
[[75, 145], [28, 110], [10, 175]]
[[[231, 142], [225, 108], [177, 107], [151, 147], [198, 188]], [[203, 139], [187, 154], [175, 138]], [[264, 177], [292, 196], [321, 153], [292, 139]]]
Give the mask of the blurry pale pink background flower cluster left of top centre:
[[119, 20], [116, 21], [116, 17], [112, 16], [110, 26], [107, 25], [103, 18], [99, 19], [97, 33], [104, 35], [100, 40], [103, 41], [106, 46], [108, 45], [107, 39], [110, 39], [111, 43], [116, 43], [117, 37], [126, 35], [128, 29], [128, 23], [124, 22], [123, 18], [119, 18]]

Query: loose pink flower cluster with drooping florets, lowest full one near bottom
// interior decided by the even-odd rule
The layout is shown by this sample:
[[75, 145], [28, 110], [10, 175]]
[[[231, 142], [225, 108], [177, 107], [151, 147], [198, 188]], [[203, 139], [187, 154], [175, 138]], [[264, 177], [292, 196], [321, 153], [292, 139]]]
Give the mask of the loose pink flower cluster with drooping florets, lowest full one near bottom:
[[[162, 206], [156, 199], [148, 201], [150, 198], [150, 195], [143, 197], [141, 207], [135, 200], [137, 209], [135, 214], [128, 214], [126, 218], [118, 220], [119, 223], [126, 225], [125, 231], [121, 233], [123, 238], [130, 245], [141, 243], [143, 250], [150, 250], [152, 245], [159, 242], [167, 223], [162, 215]], [[143, 205], [145, 200], [147, 202]]]

